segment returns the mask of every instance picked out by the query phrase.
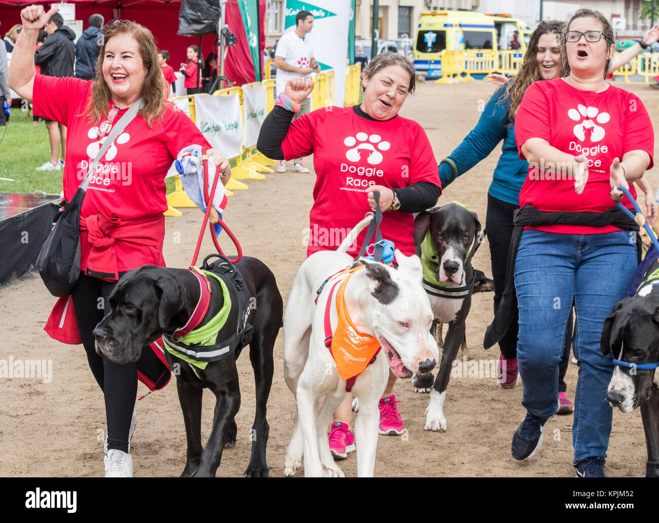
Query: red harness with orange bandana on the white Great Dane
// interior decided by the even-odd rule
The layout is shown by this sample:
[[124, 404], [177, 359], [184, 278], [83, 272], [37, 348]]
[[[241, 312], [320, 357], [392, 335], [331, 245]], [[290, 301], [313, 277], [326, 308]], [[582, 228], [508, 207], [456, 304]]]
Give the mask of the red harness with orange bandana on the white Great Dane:
[[[380, 352], [380, 342], [373, 336], [364, 335], [357, 331], [345, 307], [345, 287], [351, 277], [365, 265], [343, 269], [332, 275], [327, 281], [334, 281], [325, 306], [325, 346], [328, 348], [341, 379], [345, 379], [345, 390], [353, 389], [357, 376], [366, 367], [375, 362]], [[334, 290], [339, 286], [336, 294], [335, 306], [339, 319], [335, 329], [331, 328], [330, 311]], [[321, 290], [322, 292], [322, 290]], [[320, 294], [320, 292], [319, 292]]]

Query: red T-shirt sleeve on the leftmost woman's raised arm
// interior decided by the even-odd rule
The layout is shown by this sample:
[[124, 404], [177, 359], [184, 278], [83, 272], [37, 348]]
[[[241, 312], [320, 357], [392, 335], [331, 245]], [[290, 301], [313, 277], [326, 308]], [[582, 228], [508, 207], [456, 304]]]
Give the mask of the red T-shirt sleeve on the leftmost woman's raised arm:
[[85, 96], [90, 84], [91, 80], [73, 76], [56, 78], [36, 74], [32, 91], [35, 114], [68, 126], [69, 119], [76, 116], [72, 113], [76, 111], [80, 97]]

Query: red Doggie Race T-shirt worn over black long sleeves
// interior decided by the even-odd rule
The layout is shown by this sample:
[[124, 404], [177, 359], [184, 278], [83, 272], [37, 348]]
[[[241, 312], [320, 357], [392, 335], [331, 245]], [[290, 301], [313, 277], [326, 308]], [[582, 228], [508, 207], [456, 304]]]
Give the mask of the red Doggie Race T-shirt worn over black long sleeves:
[[[353, 107], [318, 109], [293, 121], [281, 148], [286, 159], [314, 153], [307, 256], [336, 250], [371, 211], [368, 186], [395, 189], [421, 181], [440, 185], [428, 136], [418, 123], [399, 115], [383, 122], [359, 117]], [[380, 230], [403, 254], [415, 254], [411, 213], [386, 211]], [[349, 254], [357, 256], [365, 236], [362, 231]]]

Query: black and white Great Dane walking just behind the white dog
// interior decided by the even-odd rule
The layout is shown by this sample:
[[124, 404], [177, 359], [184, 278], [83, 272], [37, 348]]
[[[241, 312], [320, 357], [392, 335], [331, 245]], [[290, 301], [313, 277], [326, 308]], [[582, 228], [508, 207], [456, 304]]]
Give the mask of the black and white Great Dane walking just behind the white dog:
[[[422, 242], [430, 231], [430, 240], [434, 248], [435, 259], [426, 260], [422, 252]], [[457, 204], [433, 207], [416, 215], [414, 239], [416, 254], [422, 263], [428, 264], [426, 271], [434, 273], [434, 279], [443, 287], [428, 285], [424, 279], [424, 289], [430, 298], [434, 316], [433, 328], [442, 329], [442, 324], [449, 325], [444, 346], [440, 370], [432, 381], [432, 373], [415, 375], [412, 385], [415, 391], [430, 390], [430, 403], [426, 408], [424, 429], [432, 431], [446, 430], [444, 418], [444, 400], [446, 388], [451, 377], [451, 368], [459, 348], [465, 341], [465, 320], [471, 308], [471, 294], [474, 289], [474, 270], [471, 258], [480, 245], [480, 222], [476, 213], [468, 211]], [[441, 334], [440, 334], [441, 337]]]

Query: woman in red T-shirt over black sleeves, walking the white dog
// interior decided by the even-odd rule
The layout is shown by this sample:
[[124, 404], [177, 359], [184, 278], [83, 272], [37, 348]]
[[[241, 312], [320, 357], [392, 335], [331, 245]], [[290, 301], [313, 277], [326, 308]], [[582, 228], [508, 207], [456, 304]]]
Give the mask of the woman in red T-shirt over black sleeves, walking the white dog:
[[[406, 256], [415, 253], [412, 213], [433, 207], [440, 196], [440, 180], [432, 148], [423, 128], [398, 112], [414, 92], [413, 65], [398, 53], [382, 53], [364, 70], [364, 99], [354, 107], [323, 107], [293, 120], [314, 82], [293, 78], [266, 121], [257, 148], [277, 160], [314, 154], [314, 205], [311, 207], [306, 255], [336, 250], [352, 227], [375, 209], [373, 192], [380, 192], [382, 236]], [[293, 123], [291, 123], [293, 121]], [[348, 249], [357, 256], [366, 232]], [[380, 433], [401, 434], [393, 385], [380, 400]], [[347, 394], [334, 414], [329, 448], [345, 458], [355, 450], [349, 429], [352, 395]]]

